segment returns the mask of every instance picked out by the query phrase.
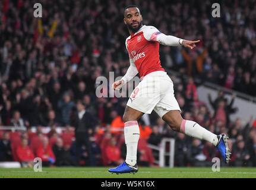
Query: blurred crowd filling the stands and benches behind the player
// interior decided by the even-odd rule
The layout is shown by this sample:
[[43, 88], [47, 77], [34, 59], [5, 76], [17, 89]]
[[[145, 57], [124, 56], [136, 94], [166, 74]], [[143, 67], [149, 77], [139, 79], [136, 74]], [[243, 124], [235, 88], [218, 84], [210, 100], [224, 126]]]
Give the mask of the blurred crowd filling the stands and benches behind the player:
[[[36, 2], [42, 4], [42, 18], [33, 17]], [[2, 132], [0, 159], [26, 161], [26, 148], [31, 149], [27, 157], [42, 157], [48, 166], [106, 166], [125, 159], [119, 131], [124, 127], [127, 98], [96, 97], [95, 81], [108, 78], [110, 71], [115, 77], [127, 71], [129, 34], [123, 12], [129, 4], [139, 5], [143, 24], [183, 39], [201, 40], [195, 50], [160, 47], [163, 68], [189, 76], [179, 82], [170, 76], [182, 116], [215, 134], [228, 134], [231, 165], [256, 166], [256, 122], [245, 126], [242, 118], [231, 122], [230, 114], [239, 108], [232, 106], [235, 96], [228, 102], [223, 92], [216, 100], [209, 95], [214, 110], [210, 112], [198, 100], [194, 83], [200, 78], [256, 95], [256, 4], [249, 0], [220, 1], [220, 18], [211, 16], [212, 1], [200, 0], [1, 1], [0, 125], [26, 126], [27, 132]], [[90, 122], [80, 122], [88, 118]], [[37, 132], [31, 132], [31, 126]], [[42, 133], [44, 126], [50, 126], [49, 134]], [[59, 134], [56, 126], [65, 130]], [[140, 131], [141, 165], [154, 165], [157, 153], [147, 143], [158, 145], [163, 137], [176, 138], [176, 166], [204, 166], [219, 156], [210, 144], [170, 131], [155, 113], [143, 116]]]

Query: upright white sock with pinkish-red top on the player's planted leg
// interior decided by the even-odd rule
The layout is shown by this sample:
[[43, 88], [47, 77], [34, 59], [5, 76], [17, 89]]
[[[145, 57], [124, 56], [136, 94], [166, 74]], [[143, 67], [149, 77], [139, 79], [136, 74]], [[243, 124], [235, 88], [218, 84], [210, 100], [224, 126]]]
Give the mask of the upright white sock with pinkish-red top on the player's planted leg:
[[125, 162], [131, 166], [137, 163], [137, 147], [140, 139], [140, 128], [137, 121], [125, 122], [125, 144], [127, 145], [127, 157]]

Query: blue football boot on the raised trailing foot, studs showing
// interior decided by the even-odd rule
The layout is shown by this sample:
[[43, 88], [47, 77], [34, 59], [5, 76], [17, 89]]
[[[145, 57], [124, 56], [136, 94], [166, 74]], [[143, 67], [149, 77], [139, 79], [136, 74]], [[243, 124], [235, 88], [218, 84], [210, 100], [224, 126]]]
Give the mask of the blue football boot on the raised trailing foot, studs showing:
[[218, 143], [216, 145], [217, 150], [220, 151], [220, 154], [222, 154], [223, 159], [225, 160], [225, 163], [229, 163], [230, 160], [230, 150], [227, 146], [227, 136], [225, 134], [217, 135]]

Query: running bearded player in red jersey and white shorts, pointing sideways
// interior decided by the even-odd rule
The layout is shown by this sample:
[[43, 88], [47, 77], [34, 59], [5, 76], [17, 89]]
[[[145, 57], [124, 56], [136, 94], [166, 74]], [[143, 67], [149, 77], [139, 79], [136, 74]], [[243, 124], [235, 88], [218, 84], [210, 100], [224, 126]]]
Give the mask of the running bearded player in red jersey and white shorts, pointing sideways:
[[143, 25], [140, 9], [135, 5], [125, 8], [124, 23], [131, 34], [125, 41], [131, 65], [124, 77], [112, 84], [112, 88], [120, 90], [137, 74], [143, 77], [143, 80], [129, 97], [123, 116], [125, 144], [127, 145], [125, 162], [109, 169], [109, 172], [118, 174], [138, 171], [137, 145], [140, 129], [137, 121], [144, 113], [150, 114], [153, 109], [174, 131], [213, 144], [228, 163], [231, 153], [227, 146], [227, 136], [225, 134], [215, 135], [196, 122], [182, 118], [181, 109], [173, 94], [172, 80], [160, 64], [159, 43], [165, 46], [184, 46], [193, 49], [195, 43], [200, 40], [179, 39], [161, 33], [156, 27]]

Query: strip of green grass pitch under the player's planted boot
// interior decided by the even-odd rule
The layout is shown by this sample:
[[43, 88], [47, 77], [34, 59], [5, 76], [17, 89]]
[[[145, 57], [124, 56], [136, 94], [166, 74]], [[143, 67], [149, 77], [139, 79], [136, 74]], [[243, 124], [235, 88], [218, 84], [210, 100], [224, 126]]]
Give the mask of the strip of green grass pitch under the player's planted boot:
[[138, 173], [116, 175], [108, 167], [43, 167], [42, 172], [29, 168], [0, 168], [0, 178], [256, 178], [254, 167], [139, 167]]

